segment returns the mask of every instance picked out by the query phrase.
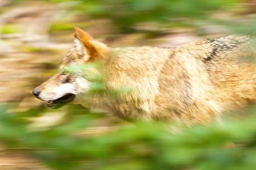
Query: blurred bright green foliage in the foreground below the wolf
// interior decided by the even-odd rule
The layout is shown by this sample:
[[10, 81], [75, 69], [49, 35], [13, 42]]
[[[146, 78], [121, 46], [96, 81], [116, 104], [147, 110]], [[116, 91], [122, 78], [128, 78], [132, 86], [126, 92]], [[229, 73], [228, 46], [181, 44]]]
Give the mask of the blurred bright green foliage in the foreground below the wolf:
[[[47, 128], [31, 128], [28, 120], [44, 110], [7, 113], [1, 106], [0, 140], [52, 169], [256, 169], [256, 117], [209, 127], [192, 127], [182, 135], [161, 123], [135, 122], [113, 132], [77, 135], [104, 119], [80, 106], [66, 106], [64, 119]], [[255, 109], [255, 108], [254, 108]], [[234, 143], [236, 147], [228, 147]], [[14, 149], [15, 150], [15, 149]]]

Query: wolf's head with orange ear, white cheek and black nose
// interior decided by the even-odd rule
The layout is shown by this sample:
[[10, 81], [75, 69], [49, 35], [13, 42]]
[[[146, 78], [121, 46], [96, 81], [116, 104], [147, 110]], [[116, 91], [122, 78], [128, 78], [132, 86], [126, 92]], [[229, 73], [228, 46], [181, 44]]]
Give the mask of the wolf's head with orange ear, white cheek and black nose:
[[62, 59], [59, 72], [32, 91], [36, 98], [47, 101], [47, 106], [52, 108], [59, 108], [89, 90], [90, 81], [83, 73], [66, 72], [66, 68], [103, 59], [104, 50], [108, 48], [79, 27], [75, 26], [74, 30], [76, 46]]

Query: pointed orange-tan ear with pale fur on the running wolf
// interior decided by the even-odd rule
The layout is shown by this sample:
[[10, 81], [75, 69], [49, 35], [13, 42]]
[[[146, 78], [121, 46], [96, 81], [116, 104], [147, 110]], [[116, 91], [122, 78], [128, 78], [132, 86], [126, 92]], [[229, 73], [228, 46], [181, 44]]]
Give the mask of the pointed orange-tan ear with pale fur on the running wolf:
[[76, 50], [78, 50], [79, 55], [85, 57], [85, 61], [102, 56], [102, 52], [107, 49], [104, 43], [94, 40], [89, 33], [81, 30], [78, 26], [75, 26], [74, 30]]

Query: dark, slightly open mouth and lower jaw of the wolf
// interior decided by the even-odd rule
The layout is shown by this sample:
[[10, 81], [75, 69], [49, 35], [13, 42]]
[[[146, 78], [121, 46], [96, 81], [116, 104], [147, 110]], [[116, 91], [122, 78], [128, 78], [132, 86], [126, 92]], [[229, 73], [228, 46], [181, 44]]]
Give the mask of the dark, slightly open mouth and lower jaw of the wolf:
[[73, 101], [74, 99], [75, 99], [75, 95], [69, 93], [69, 94], [62, 96], [59, 99], [48, 101], [47, 106], [49, 108], [58, 109], [58, 108], [62, 107], [64, 104], [69, 103], [70, 101]]

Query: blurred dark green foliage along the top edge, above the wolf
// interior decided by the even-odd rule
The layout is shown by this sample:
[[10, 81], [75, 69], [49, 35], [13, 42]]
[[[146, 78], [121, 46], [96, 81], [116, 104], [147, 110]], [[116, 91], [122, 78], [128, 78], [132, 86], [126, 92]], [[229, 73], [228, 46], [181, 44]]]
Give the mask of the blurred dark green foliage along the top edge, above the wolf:
[[[68, 1], [68, 0], [66, 0]], [[52, 0], [52, 2], [63, 2]], [[74, 1], [73, 1], [74, 2]], [[133, 26], [144, 22], [161, 22], [166, 26], [194, 25], [195, 20], [206, 20], [218, 10], [227, 9], [239, 0], [93, 0], [76, 1], [75, 10], [91, 17], [112, 20], [119, 31], [134, 31]]]

